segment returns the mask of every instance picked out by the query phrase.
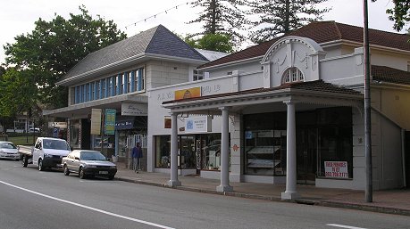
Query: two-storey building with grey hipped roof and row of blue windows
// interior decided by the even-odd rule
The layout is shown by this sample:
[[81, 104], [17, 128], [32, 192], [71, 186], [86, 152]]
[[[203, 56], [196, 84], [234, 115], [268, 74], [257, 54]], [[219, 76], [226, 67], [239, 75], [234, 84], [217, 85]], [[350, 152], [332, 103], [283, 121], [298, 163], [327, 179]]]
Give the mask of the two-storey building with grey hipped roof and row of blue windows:
[[148, 29], [79, 61], [57, 82], [69, 88], [68, 106], [43, 114], [67, 120], [72, 149], [101, 150], [108, 157], [127, 159], [127, 152], [140, 142], [146, 152], [146, 90], [203, 78], [197, 66], [208, 62], [205, 55], [215, 58], [220, 53], [202, 52], [162, 25]]

